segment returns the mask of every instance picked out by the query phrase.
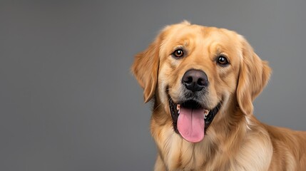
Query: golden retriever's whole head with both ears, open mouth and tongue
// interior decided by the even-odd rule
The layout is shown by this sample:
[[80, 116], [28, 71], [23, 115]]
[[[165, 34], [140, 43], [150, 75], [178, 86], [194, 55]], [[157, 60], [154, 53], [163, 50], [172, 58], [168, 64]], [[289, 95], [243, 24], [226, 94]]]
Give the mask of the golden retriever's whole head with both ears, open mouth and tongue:
[[190, 142], [203, 139], [218, 113], [252, 115], [253, 100], [270, 77], [267, 62], [243, 36], [186, 21], [165, 27], [136, 55], [132, 72], [145, 102], [155, 97], [175, 132]]

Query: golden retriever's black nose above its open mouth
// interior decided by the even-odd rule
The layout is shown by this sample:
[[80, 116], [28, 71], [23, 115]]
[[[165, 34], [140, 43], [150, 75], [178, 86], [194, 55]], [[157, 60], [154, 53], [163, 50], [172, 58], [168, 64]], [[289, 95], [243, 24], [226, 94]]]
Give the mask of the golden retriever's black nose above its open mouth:
[[208, 86], [208, 78], [203, 71], [191, 69], [185, 72], [182, 83], [188, 90], [195, 92]]

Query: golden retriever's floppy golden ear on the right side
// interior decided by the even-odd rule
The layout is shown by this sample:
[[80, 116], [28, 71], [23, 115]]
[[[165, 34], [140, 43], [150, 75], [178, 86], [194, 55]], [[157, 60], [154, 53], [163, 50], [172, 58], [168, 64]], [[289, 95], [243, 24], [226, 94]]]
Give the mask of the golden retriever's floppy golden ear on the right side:
[[242, 38], [243, 54], [237, 87], [237, 100], [245, 115], [253, 113], [253, 100], [266, 86], [271, 68], [267, 61], [262, 61], [253, 51], [248, 41]]

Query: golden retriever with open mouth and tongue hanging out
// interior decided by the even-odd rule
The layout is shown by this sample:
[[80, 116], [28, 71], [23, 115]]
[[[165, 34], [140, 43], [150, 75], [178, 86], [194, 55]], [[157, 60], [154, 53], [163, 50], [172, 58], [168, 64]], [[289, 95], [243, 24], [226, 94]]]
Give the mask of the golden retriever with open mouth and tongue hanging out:
[[238, 33], [166, 26], [131, 71], [154, 103], [154, 170], [306, 170], [306, 133], [253, 115], [271, 69]]

